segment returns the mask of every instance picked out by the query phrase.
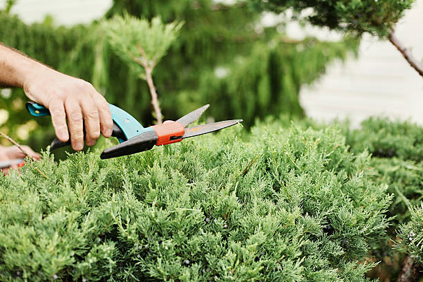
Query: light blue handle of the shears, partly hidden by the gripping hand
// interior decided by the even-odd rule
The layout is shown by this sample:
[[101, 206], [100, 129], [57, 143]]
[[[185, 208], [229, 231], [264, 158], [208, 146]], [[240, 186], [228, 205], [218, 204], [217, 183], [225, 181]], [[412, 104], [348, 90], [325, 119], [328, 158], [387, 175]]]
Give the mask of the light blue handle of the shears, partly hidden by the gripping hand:
[[[120, 129], [122, 129], [124, 135], [126, 136], [126, 140], [134, 138], [141, 133], [153, 131], [151, 127], [144, 128], [138, 120], [135, 120], [132, 115], [126, 113], [126, 111], [120, 109], [118, 106], [109, 104], [109, 107], [113, 121], [118, 124]], [[48, 111], [46, 107], [35, 102], [26, 103], [26, 109], [28, 109], [31, 115], [36, 117], [50, 115], [50, 111]], [[124, 140], [119, 138], [119, 142], [122, 143], [123, 141]]]

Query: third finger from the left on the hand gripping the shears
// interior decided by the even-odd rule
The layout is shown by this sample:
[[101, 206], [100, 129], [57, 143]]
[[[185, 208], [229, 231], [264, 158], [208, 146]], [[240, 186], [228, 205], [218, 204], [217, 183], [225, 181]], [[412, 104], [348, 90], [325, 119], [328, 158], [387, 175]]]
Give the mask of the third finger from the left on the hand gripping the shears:
[[85, 123], [85, 140], [88, 146], [93, 146], [100, 137], [100, 118], [93, 100], [86, 99], [81, 103]]

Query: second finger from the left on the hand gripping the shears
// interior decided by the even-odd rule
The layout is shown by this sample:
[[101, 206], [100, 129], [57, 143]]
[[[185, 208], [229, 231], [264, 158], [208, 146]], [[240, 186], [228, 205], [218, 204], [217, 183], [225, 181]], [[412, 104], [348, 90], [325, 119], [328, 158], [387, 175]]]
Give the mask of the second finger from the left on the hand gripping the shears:
[[82, 122], [82, 111], [79, 104], [72, 98], [65, 101], [68, 127], [71, 133], [72, 148], [81, 151], [84, 148], [84, 124]]

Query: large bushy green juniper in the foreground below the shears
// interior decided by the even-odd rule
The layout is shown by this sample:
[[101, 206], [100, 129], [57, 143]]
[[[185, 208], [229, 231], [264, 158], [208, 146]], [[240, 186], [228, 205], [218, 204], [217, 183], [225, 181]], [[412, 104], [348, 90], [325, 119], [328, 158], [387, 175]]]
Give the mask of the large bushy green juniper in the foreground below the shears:
[[365, 281], [386, 185], [339, 131], [256, 126], [0, 177], [1, 281]]

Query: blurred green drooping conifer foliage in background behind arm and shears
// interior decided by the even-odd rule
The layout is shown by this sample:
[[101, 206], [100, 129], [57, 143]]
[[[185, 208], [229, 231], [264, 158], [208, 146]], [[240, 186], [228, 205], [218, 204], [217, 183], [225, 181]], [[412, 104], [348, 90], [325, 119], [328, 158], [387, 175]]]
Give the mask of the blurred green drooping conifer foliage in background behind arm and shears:
[[[319, 77], [332, 59], [344, 59], [357, 48], [353, 39], [292, 41], [285, 37], [283, 28], [263, 28], [261, 14], [243, 3], [115, 1], [106, 18], [124, 10], [149, 20], [160, 16], [164, 23], [184, 22], [178, 39], [153, 73], [166, 119], [179, 118], [207, 103], [214, 105], [210, 117], [225, 120], [239, 118], [242, 113], [245, 126], [266, 115], [302, 117], [298, 99], [301, 85]], [[28, 26], [0, 12], [0, 26], [4, 44], [88, 80], [109, 102], [142, 124], [152, 124], [147, 84], [111, 50], [99, 23], [57, 28], [46, 21]], [[45, 147], [53, 138], [50, 122], [31, 122], [32, 117], [24, 114], [26, 98], [21, 91], [14, 90], [6, 97], [0, 99], [0, 108], [8, 109], [9, 118], [0, 130], [35, 149]], [[18, 134], [28, 130], [32, 131], [31, 140]]]

